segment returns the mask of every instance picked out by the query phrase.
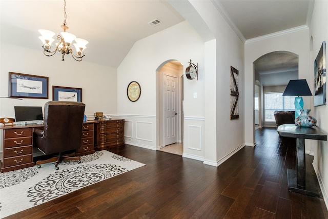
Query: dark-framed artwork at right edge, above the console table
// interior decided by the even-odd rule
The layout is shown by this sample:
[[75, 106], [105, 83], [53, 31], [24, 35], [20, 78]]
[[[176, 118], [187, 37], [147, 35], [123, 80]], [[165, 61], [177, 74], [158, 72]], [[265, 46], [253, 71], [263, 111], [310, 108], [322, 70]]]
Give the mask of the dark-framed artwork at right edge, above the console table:
[[314, 106], [326, 104], [326, 43], [322, 42], [314, 61]]

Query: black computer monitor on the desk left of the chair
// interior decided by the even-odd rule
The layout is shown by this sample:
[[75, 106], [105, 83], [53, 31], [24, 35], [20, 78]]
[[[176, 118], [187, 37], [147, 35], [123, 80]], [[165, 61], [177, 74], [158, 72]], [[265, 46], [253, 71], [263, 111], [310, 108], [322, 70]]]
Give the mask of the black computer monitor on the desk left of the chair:
[[43, 121], [42, 107], [14, 106], [16, 122], [39, 123]]

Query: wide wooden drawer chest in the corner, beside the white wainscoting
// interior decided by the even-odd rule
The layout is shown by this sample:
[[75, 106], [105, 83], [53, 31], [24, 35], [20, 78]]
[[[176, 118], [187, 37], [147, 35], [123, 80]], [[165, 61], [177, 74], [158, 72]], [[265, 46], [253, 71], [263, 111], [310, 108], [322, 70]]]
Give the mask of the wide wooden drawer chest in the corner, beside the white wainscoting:
[[96, 150], [125, 145], [125, 120], [104, 120], [96, 123]]

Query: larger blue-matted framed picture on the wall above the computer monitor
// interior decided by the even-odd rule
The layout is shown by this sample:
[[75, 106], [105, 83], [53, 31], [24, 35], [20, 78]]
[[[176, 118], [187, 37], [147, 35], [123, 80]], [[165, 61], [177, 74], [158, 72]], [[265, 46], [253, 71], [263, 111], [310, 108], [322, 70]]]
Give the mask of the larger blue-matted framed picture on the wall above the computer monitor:
[[48, 99], [49, 77], [9, 72], [9, 97]]

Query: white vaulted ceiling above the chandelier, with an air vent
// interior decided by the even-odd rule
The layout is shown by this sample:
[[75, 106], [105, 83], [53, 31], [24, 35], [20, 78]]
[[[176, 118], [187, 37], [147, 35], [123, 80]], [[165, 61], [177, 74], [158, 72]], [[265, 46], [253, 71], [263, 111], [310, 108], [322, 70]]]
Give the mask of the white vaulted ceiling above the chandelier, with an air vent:
[[[63, 31], [64, 0], [1, 0], [0, 6], [1, 27], [10, 25], [12, 31], [1, 31], [2, 40], [42, 52], [37, 30], [48, 29], [57, 35]], [[67, 0], [66, 13], [67, 32], [89, 41], [83, 61], [114, 68], [136, 41], [184, 21], [168, 2], [158, 0]], [[148, 22], [156, 18], [162, 24], [150, 26]]]

